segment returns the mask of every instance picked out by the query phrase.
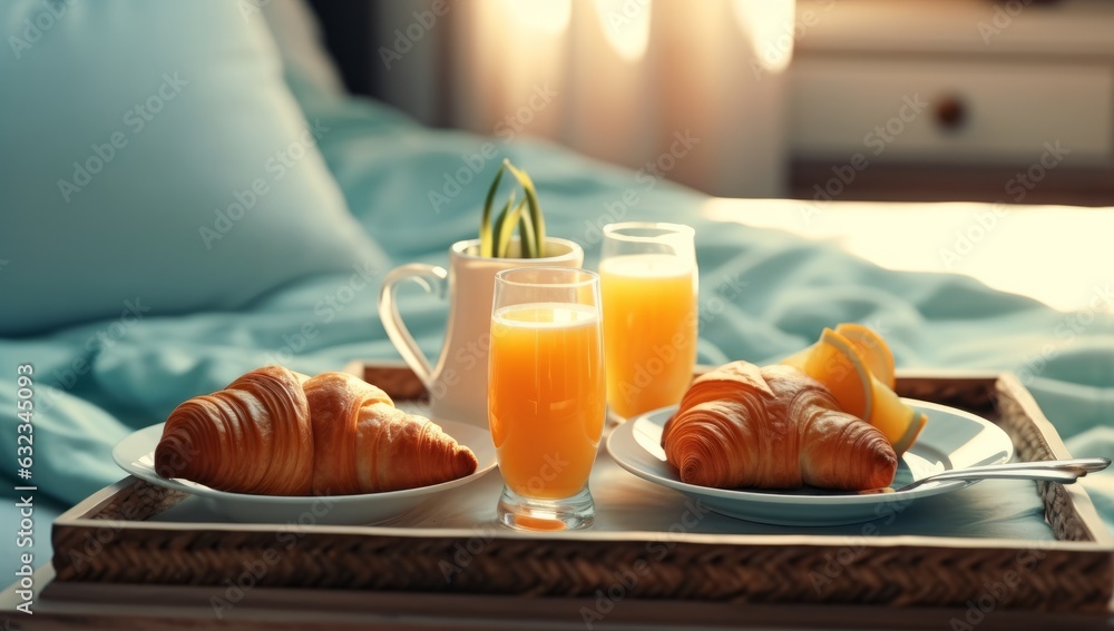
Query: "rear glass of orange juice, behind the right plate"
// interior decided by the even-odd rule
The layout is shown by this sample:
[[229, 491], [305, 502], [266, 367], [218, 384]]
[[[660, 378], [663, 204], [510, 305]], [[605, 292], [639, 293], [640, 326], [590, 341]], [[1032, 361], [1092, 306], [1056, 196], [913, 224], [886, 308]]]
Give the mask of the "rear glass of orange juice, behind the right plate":
[[680, 224], [604, 226], [607, 403], [631, 418], [681, 403], [696, 364], [696, 248]]

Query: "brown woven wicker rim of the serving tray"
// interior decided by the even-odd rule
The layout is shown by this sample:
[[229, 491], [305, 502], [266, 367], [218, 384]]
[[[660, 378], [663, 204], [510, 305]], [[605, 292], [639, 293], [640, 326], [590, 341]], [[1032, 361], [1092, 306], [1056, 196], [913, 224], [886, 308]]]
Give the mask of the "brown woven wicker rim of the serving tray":
[[[356, 365], [364, 378], [399, 401], [420, 400], [421, 383], [398, 365]], [[902, 375], [903, 396], [969, 410], [998, 423], [1019, 460], [1069, 457], [1052, 424], [1012, 375]], [[494, 474], [495, 475], [495, 474]], [[1114, 540], [1079, 485], [1039, 483], [1055, 541], [1003, 593], [993, 585], [1016, 575], [1025, 540], [874, 536], [841, 561], [844, 579], [817, 590], [813, 579], [846, 553], [848, 538], [663, 532], [522, 534], [476, 529], [309, 526], [278, 556], [276, 529], [265, 524], [147, 521], [186, 496], [128, 477], [61, 515], [53, 525], [56, 583], [101, 582], [224, 588], [267, 559], [258, 585], [595, 598], [617, 576], [637, 575], [622, 598], [765, 604], [883, 604], [964, 609], [993, 598], [996, 609], [1105, 614], [1114, 591]], [[823, 531], [818, 531], [823, 532]], [[645, 568], [647, 545], [668, 535], [667, 554]], [[467, 572], [447, 581], [444, 563], [470, 550]], [[472, 553], [475, 552], [475, 553]], [[639, 564], [643, 564], [639, 566]], [[599, 590], [599, 592], [597, 592]], [[988, 597], [988, 593], [990, 595]]]

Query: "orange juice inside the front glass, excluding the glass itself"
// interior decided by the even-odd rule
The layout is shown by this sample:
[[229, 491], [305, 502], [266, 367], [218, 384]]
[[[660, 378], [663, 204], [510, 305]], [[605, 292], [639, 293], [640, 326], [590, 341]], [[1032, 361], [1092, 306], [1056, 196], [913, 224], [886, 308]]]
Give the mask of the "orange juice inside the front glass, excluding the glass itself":
[[599, 338], [589, 306], [535, 303], [492, 314], [488, 420], [515, 493], [560, 500], [588, 481], [606, 406]]

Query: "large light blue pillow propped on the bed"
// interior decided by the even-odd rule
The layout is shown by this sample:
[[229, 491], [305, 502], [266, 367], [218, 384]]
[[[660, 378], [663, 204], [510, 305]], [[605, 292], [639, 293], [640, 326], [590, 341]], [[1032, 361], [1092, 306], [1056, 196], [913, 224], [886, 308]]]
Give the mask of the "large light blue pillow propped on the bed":
[[0, 8], [0, 335], [387, 265], [252, 2]]

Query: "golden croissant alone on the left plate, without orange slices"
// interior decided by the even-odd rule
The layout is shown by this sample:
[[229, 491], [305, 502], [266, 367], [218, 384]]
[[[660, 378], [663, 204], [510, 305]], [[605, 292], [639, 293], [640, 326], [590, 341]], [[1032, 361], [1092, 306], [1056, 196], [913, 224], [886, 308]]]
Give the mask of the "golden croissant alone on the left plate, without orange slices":
[[166, 420], [155, 471], [221, 491], [343, 495], [414, 489], [476, 471], [428, 418], [345, 373], [252, 371]]

